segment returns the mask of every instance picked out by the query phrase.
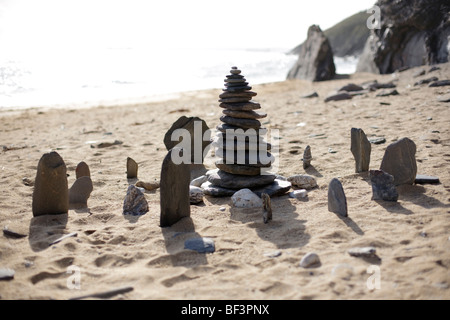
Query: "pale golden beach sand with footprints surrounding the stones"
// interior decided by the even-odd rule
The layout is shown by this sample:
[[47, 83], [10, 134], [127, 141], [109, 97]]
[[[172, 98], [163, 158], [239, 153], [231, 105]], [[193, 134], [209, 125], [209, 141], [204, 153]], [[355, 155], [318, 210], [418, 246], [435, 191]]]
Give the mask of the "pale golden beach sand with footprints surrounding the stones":
[[[122, 214], [127, 187], [136, 181], [127, 180], [127, 157], [139, 164], [140, 180], [159, 180], [166, 131], [182, 115], [200, 117], [214, 129], [220, 123], [221, 89], [147, 103], [1, 112], [0, 227], [26, 235], [0, 235], [0, 268], [15, 271], [13, 279], [0, 281], [1, 299], [70, 299], [124, 287], [132, 290], [110, 298], [450, 299], [450, 104], [437, 101], [450, 90], [414, 86], [431, 76], [447, 79], [450, 64], [439, 67], [418, 78], [413, 77], [417, 70], [430, 67], [253, 85], [258, 93], [253, 100], [268, 114], [264, 126], [279, 130], [278, 174], [306, 173], [318, 182], [304, 200], [272, 198], [273, 220], [267, 224], [262, 209], [238, 209], [229, 197], [205, 196], [202, 204], [191, 205], [190, 218], [161, 228], [159, 189], [145, 193], [147, 214]], [[380, 89], [324, 102], [343, 85], [374, 79], [397, 81], [399, 95], [376, 97]], [[301, 98], [312, 91], [319, 97]], [[417, 146], [418, 173], [437, 176], [440, 183], [399, 186], [397, 202], [371, 200], [368, 173], [355, 173], [352, 127], [362, 128], [368, 138], [386, 139], [372, 144], [370, 169], [379, 169], [390, 143], [408, 137]], [[97, 147], [116, 140], [123, 143]], [[313, 160], [305, 170], [301, 159], [307, 145]], [[64, 159], [69, 186], [77, 164], [85, 161], [94, 190], [88, 209], [33, 218], [30, 183], [39, 159], [51, 150]], [[215, 168], [208, 159], [205, 167]], [[328, 211], [333, 178], [342, 182], [347, 218]], [[184, 249], [193, 237], [212, 238], [215, 252]], [[365, 246], [375, 247], [376, 256], [347, 252]], [[320, 264], [300, 267], [309, 252]]]

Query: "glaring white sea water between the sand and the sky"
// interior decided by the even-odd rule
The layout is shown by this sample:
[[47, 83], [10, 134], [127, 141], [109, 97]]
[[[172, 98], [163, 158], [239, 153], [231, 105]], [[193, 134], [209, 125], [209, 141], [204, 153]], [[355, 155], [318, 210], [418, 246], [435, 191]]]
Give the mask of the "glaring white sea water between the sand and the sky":
[[[288, 49], [59, 48], [0, 53], [0, 108], [99, 105], [223, 88], [232, 66], [249, 85], [284, 81], [297, 56]], [[338, 73], [356, 60], [335, 58]]]

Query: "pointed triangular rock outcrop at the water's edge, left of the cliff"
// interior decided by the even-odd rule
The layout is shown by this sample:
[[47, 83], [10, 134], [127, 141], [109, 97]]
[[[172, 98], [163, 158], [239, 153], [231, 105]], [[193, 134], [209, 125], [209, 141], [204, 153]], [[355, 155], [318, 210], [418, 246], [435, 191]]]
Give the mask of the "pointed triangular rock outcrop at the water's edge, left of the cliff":
[[310, 81], [331, 80], [336, 75], [333, 50], [330, 42], [317, 25], [308, 29], [308, 38], [303, 43], [299, 57], [289, 70], [287, 79]]

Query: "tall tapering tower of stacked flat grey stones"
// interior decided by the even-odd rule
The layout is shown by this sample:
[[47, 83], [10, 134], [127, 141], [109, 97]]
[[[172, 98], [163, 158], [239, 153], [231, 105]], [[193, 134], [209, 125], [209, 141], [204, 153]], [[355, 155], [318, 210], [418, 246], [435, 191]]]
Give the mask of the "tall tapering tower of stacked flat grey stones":
[[252, 101], [256, 92], [251, 91], [241, 70], [232, 67], [230, 73], [224, 92], [219, 95], [223, 115], [213, 144], [219, 158], [215, 162], [218, 170], [209, 175], [208, 183], [202, 187], [213, 196], [229, 196], [244, 188], [258, 195], [284, 194], [290, 183], [269, 172], [275, 158], [270, 153], [272, 145], [263, 137], [267, 129], [259, 121], [267, 114], [256, 111], [261, 105]]

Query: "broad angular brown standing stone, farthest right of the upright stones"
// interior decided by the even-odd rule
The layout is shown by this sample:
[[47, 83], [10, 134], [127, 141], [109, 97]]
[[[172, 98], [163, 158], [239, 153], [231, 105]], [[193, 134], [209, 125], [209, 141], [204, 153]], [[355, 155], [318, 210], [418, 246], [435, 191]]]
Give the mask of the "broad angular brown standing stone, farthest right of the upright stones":
[[395, 185], [413, 184], [417, 174], [416, 144], [409, 138], [390, 144], [384, 153], [380, 170], [394, 176]]

